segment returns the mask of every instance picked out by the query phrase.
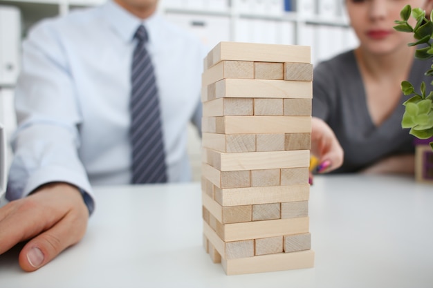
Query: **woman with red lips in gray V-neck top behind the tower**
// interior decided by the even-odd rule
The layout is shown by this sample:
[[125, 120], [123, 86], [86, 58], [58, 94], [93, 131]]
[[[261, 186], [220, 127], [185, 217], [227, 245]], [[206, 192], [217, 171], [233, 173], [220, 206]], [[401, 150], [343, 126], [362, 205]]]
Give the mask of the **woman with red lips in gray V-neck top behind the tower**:
[[430, 15], [433, 1], [345, 3], [360, 45], [317, 65], [313, 81], [313, 116], [331, 127], [344, 150], [344, 162], [333, 172], [414, 173], [414, 137], [401, 128], [408, 97], [400, 83], [430, 83], [423, 75], [431, 63], [414, 59], [415, 48], [407, 46], [412, 33], [393, 27], [406, 4]]

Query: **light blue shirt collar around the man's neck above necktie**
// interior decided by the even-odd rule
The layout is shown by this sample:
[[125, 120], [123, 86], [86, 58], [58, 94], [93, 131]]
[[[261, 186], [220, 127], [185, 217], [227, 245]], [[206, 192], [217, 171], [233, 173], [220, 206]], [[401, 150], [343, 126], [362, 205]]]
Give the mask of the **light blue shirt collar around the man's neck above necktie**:
[[138, 26], [144, 25], [149, 35], [149, 42], [156, 36], [154, 33], [155, 23], [159, 21], [158, 13], [154, 13], [151, 17], [142, 20], [131, 13], [127, 12], [124, 8], [120, 7], [115, 1], [107, 1], [104, 7], [104, 14], [107, 21], [116, 34], [125, 42], [131, 42], [133, 35], [136, 33]]

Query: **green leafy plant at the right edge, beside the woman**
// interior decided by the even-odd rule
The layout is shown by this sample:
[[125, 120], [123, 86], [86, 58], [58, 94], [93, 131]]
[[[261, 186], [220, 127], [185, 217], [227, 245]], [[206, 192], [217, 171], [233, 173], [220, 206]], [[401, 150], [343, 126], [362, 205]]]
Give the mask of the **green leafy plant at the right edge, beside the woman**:
[[[416, 19], [416, 25], [408, 23], [410, 17]], [[415, 57], [422, 60], [433, 60], [433, 11], [427, 19], [425, 11], [421, 8], [414, 8], [407, 5], [400, 12], [400, 20], [395, 21], [394, 29], [400, 32], [410, 32], [414, 34], [416, 41], [409, 43], [409, 46], [419, 46], [416, 49]], [[427, 76], [433, 76], [433, 65], [430, 70], [425, 72]], [[433, 81], [430, 83], [433, 85]], [[428, 140], [433, 137], [433, 91], [426, 94], [426, 84], [423, 81], [419, 90], [409, 81], [401, 83], [401, 90], [404, 95], [412, 96], [403, 105], [405, 113], [401, 121], [403, 128], [410, 128], [409, 133], [420, 140]], [[430, 141], [433, 150], [433, 139]]]

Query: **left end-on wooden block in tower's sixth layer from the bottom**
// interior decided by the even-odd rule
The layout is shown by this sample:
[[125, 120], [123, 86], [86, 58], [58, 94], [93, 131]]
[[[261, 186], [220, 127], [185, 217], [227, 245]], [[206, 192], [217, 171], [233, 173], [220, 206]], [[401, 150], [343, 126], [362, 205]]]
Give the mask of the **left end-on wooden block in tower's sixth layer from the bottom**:
[[250, 171], [219, 171], [209, 164], [202, 163], [201, 173], [216, 187], [241, 188], [250, 186]]

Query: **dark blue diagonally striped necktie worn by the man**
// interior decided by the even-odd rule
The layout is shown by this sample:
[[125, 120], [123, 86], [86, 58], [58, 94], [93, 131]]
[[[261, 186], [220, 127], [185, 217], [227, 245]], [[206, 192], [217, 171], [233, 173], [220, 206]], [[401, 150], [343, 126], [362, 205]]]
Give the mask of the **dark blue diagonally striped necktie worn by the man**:
[[154, 66], [145, 48], [147, 32], [140, 25], [134, 39], [131, 70], [131, 183], [167, 182], [163, 131]]

